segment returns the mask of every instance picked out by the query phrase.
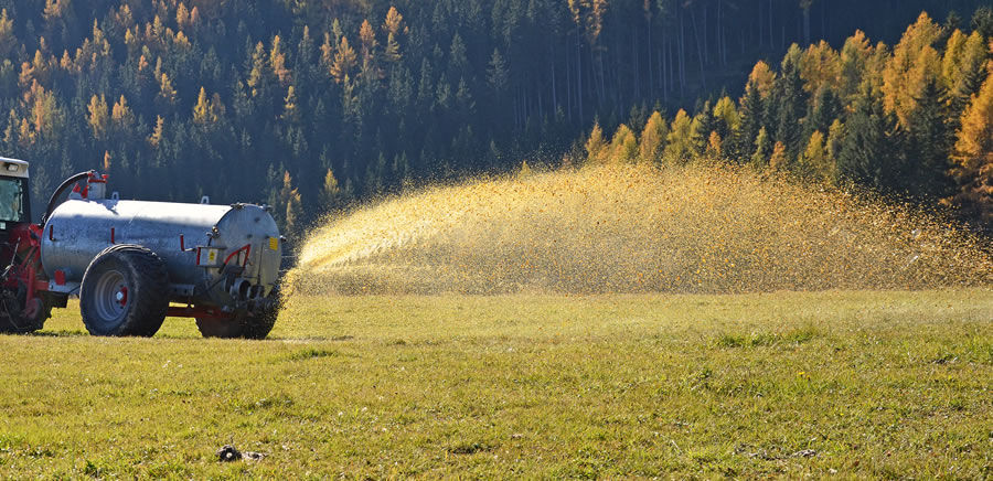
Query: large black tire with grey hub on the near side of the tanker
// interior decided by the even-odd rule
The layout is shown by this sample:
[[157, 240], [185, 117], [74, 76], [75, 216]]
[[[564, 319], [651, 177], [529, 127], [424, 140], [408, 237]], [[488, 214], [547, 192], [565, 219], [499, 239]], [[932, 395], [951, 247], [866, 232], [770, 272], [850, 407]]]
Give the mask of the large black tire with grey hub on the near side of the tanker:
[[168, 308], [166, 263], [145, 247], [107, 247], [83, 275], [79, 311], [93, 335], [152, 336]]

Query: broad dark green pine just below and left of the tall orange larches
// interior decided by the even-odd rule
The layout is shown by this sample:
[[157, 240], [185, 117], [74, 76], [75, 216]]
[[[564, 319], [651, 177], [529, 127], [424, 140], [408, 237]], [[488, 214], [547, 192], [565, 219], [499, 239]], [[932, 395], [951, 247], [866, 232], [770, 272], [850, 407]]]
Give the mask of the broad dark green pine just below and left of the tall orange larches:
[[837, 156], [842, 179], [886, 192], [899, 192], [904, 179], [901, 133], [897, 119], [883, 107], [882, 95], [863, 84], [855, 111], [845, 122], [848, 135]]

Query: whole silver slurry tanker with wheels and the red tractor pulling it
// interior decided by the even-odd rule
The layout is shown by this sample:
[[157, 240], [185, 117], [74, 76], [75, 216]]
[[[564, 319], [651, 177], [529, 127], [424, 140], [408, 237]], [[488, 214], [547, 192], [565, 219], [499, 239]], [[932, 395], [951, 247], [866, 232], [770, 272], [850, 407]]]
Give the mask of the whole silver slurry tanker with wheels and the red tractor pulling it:
[[75, 174], [32, 224], [28, 162], [0, 158], [0, 332], [39, 330], [78, 295], [94, 335], [151, 336], [167, 316], [195, 318], [204, 336], [269, 333], [284, 238], [265, 206], [125, 201], [106, 188], [107, 175]]

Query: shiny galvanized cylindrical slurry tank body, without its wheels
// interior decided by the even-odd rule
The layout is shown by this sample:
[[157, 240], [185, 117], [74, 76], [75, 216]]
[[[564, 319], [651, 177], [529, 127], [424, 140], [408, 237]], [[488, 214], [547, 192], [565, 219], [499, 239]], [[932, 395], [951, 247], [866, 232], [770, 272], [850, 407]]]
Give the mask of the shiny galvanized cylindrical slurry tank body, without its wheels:
[[282, 250], [276, 222], [258, 205], [68, 200], [45, 223], [41, 261], [53, 282], [76, 285], [111, 243], [161, 257], [173, 300], [232, 307], [271, 291]]

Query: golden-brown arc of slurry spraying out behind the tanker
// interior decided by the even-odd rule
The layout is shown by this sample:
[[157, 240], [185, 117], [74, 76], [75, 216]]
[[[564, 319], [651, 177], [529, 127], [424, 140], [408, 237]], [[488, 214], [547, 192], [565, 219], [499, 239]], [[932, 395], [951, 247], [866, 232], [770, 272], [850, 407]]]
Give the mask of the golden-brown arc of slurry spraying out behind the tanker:
[[744, 169], [587, 167], [437, 186], [332, 218], [301, 293], [600, 293], [993, 285], [987, 242]]

